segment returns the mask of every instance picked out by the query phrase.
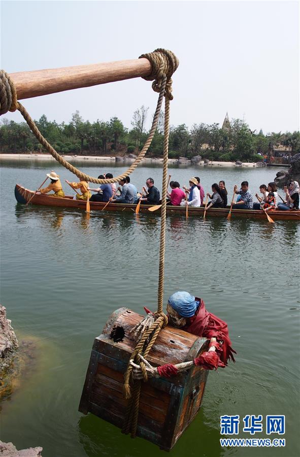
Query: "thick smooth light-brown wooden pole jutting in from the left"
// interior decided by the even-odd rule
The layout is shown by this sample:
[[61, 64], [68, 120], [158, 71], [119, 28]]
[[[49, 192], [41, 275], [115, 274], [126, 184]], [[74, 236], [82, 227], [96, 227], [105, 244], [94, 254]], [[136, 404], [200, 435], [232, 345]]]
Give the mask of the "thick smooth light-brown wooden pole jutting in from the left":
[[23, 100], [79, 87], [149, 76], [151, 72], [149, 60], [140, 58], [105, 64], [10, 73], [10, 77], [15, 83], [18, 100]]

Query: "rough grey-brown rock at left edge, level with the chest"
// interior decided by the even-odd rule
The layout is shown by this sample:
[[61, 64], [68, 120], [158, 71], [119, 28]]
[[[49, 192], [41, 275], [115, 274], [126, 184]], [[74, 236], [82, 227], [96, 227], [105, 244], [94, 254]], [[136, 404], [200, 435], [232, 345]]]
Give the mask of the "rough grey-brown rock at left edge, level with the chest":
[[11, 321], [6, 317], [6, 308], [0, 304], [0, 382], [17, 348], [18, 340]]

